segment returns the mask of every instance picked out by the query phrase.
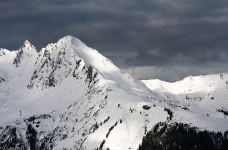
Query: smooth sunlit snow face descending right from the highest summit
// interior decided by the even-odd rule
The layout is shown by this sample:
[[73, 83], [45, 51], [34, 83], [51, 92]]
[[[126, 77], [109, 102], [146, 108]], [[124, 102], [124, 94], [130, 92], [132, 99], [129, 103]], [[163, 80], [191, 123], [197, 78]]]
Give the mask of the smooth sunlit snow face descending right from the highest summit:
[[134, 85], [134, 80], [129, 80], [129, 77], [123, 75], [111, 60], [104, 57], [97, 50], [88, 47], [78, 38], [67, 35], [57, 42], [57, 45], [59, 44], [66, 44], [68, 50], [73, 50], [79, 58], [84, 60], [87, 67], [93, 66], [105, 79], [125, 83], [128, 86]]

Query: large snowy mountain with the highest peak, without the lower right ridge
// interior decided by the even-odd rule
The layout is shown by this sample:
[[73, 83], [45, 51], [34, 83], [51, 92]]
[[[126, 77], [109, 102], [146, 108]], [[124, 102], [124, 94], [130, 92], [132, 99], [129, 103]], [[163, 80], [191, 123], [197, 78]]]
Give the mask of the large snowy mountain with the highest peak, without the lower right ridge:
[[0, 54], [0, 138], [16, 128], [26, 148], [35, 129], [39, 148], [136, 149], [168, 116], [159, 106], [143, 109], [153, 106], [152, 92], [72, 36], [39, 53], [26, 41]]

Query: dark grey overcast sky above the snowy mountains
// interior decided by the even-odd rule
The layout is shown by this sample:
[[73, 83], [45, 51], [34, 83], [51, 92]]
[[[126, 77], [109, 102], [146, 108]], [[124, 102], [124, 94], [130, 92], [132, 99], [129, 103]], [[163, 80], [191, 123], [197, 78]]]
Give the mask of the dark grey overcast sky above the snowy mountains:
[[0, 47], [65, 35], [136, 79], [228, 72], [227, 0], [0, 0]]

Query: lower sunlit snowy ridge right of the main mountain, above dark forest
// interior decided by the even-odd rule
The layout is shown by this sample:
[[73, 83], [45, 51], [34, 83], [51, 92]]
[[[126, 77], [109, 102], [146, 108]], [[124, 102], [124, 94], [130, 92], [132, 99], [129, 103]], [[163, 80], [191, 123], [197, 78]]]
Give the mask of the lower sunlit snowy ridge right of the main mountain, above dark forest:
[[207, 130], [228, 129], [228, 74], [190, 76], [174, 83], [160, 80], [142, 82], [167, 99], [176, 115], [174, 120]]

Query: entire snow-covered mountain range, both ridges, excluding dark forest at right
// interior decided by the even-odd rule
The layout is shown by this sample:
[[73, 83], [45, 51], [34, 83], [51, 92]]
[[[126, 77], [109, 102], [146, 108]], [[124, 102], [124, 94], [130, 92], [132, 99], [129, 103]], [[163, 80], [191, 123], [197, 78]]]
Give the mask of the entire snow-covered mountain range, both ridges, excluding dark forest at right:
[[0, 49], [0, 149], [137, 149], [159, 122], [228, 130], [228, 75], [134, 80], [66, 36]]

